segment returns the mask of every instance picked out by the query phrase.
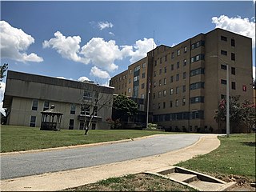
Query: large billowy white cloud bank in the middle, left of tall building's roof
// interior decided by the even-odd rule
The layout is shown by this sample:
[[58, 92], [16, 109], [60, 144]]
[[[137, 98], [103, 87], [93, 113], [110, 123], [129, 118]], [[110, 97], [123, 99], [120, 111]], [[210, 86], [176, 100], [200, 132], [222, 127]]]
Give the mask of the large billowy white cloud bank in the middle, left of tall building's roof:
[[130, 62], [137, 62], [146, 57], [146, 53], [155, 46], [153, 38], [138, 40], [134, 46], [118, 46], [114, 40], [107, 42], [103, 38], [91, 38], [86, 45], [80, 48], [81, 38], [79, 36], [65, 37], [59, 31], [54, 36], [55, 38], [43, 42], [44, 48], [50, 47], [57, 50], [63, 58], [86, 65], [92, 64], [108, 72], [118, 69], [115, 61], [130, 58]]

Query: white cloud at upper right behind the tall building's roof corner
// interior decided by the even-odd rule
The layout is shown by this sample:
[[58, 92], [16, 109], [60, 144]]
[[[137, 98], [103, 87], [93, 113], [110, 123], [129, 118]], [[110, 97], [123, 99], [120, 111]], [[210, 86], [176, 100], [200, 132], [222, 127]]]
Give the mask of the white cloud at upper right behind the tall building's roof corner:
[[252, 38], [253, 48], [255, 47], [255, 22], [250, 22], [249, 18], [229, 18], [226, 15], [221, 15], [219, 18], [213, 17], [212, 22], [216, 25], [215, 28], [230, 30], [237, 34], [242, 34]]

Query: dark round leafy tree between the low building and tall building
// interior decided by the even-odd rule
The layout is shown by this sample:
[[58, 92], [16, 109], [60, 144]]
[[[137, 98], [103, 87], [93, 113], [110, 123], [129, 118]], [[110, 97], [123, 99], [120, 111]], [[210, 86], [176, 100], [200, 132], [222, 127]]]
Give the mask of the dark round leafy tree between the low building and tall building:
[[138, 105], [136, 102], [126, 97], [125, 95], [119, 94], [113, 100], [113, 112], [112, 117], [114, 120], [121, 119], [123, 122], [138, 113]]

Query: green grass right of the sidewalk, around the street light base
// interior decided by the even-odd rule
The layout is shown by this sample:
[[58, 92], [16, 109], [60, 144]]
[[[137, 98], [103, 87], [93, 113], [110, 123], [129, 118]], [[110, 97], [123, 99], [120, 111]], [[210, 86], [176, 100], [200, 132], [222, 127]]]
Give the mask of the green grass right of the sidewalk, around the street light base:
[[255, 181], [255, 134], [231, 134], [230, 138], [218, 138], [221, 142], [218, 149], [176, 166], [212, 175], [240, 175]]

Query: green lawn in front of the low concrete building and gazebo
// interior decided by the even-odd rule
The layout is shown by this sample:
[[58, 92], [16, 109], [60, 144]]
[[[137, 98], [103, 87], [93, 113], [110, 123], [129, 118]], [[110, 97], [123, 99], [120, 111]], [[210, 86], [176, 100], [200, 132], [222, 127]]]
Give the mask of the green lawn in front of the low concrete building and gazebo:
[[38, 127], [1, 126], [1, 152], [37, 150], [139, 138], [153, 134], [175, 134], [146, 130], [40, 130]]

